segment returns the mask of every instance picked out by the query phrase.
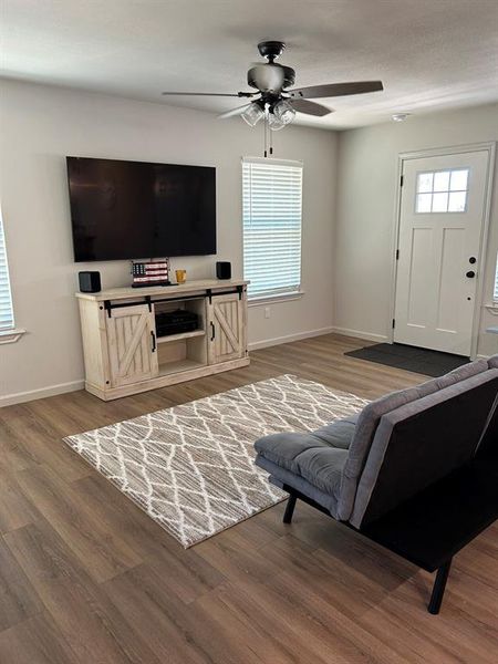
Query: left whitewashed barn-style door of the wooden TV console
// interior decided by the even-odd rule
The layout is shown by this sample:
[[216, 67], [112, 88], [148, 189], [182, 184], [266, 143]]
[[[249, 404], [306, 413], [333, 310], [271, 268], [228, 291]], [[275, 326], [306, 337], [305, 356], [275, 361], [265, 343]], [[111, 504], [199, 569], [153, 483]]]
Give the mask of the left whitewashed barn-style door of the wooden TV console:
[[155, 320], [148, 305], [113, 309], [106, 321], [112, 386], [157, 376]]

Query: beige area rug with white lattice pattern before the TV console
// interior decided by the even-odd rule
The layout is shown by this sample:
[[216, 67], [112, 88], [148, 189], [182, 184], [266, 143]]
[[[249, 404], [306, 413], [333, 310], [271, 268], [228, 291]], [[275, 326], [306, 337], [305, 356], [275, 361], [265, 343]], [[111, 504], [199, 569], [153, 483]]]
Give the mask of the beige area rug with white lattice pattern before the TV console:
[[314, 429], [366, 403], [281, 375], [64, 442], [188, 548], [287, 497], [255, 466], [255, 440]]

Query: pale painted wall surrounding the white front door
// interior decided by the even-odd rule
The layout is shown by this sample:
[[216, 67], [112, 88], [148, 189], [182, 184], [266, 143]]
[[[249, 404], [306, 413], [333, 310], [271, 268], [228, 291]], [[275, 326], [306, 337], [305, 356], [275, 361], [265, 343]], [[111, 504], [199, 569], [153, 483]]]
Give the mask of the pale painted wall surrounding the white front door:
[[[390, 330], [397, 156], [403, 152], [498, 139], [498, 105], [411, 117], [340, 134], [335, 215], [334, 326], [386, 339]], [[495, 177], [495, 183], [498, 178]], [[498, 251], [495, 184], [485, 270], [485, 302], [492, 295]], [[478, 353], [498, 351], [485, 334], [497, 318], [483, 310]]]

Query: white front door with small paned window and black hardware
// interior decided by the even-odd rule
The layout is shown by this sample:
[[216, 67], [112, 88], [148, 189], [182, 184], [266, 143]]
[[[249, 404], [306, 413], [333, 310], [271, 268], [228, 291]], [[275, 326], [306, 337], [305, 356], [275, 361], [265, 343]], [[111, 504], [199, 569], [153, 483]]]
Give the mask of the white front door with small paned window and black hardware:
[[403, 164], [394, 341], [469, 356], [488, 153]]

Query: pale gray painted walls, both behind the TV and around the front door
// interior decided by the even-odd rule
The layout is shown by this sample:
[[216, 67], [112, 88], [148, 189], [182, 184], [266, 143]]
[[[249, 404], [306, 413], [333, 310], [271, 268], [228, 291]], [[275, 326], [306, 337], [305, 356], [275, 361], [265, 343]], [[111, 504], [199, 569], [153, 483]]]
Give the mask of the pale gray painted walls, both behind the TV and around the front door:
[[[3, 82], [0, 201], [15, 322], [28, 333], [0, 346], [0, 405], [80, 387], [83, 360], [76, 272], [95, 268], [104, 288], [128, 283], [128, 262], [72, 260], [64, 156], [149, 159], [217, 167], [218, 257], [242, 273], [240, 157], [262, 153], [262, 131], [240, 120], [43, 85]], [[413, 117], [336, 134], [288, 127], [276, 156], [304, 162], [305, 294], [249, 313], [253, 346], [332, 328], [388, 334], [397, 155], [498, 138], [498, 106]], [[338, 152], [339, 143], [339, 152]], [[338, 167], [340, 165], [340, 167]], [[335, 186], [338, 196], [335, 196]], [[340, 193], [340, 196], [339, 196]], [[489, 302], [498, 250], [495, 190], [485, 273]], [[190, 279], [214, 276], [215, 257], [174, 259]], [[332, 300], [333, 308], [332, 308]], [[481, 328], [497, 319], [483, 310]], [[479, 352], [497, 351], [481, 334]]]

